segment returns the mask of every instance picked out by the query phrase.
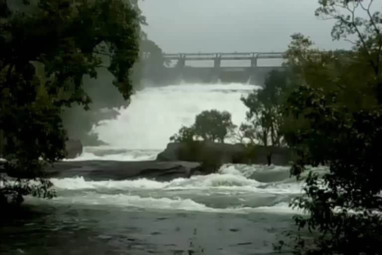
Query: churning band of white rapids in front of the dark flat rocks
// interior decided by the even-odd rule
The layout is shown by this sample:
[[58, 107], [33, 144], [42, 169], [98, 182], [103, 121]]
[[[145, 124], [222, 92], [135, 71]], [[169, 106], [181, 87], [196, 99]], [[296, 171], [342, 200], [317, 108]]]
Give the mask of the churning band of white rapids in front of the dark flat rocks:
[[81, 176], [51, 181], [58, 193], [56, 198], [29, 198], [27, 202], [112, 206], [125, 211], [290, 214], [296, 212], [288, 207], [288, 202], [301, 191], [301, 184], [289, 178], [288, 167], [260, 165], [229, 164], [216, 174], [168, 182], [144, 178], [86, 181]]

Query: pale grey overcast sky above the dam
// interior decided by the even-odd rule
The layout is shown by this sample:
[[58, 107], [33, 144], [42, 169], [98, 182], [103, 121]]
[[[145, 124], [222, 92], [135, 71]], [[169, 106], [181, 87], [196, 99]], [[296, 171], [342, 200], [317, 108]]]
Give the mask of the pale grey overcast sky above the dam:
[[144, 28], [166, 53], [284, 51], [290, 35], [311, 36], [320, 48], [333, 42], [331, 21], [314, 16], [317, 0], [144, 0]]

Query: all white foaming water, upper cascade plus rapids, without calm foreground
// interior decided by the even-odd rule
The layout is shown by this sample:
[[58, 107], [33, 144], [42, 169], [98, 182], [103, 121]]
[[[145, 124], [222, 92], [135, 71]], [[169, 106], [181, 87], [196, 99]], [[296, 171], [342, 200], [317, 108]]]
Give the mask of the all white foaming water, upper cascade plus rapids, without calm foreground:
[[[234, 124], [240, 125], [247, 110], [240, 98], [257, 89], [243, 84], [146, 88], [133, 95], [128, 108], [118, 110], [115, 120], [94, 127], [93, 132], [109, 145], [85, 147], [83, 155], [73, 160], [154, 160], [169, 137], [182, 125], [191, 125], [203, 110], [229, 111]], [[58, 197], [47, 203], [107, 205], [121, 210], [293, 213], [288, 202], [301, 191], [288, 167], [261, 165], [223, 165], [216, 174], [169, 182], [85, 181], [81, 176], [51, 180]]]

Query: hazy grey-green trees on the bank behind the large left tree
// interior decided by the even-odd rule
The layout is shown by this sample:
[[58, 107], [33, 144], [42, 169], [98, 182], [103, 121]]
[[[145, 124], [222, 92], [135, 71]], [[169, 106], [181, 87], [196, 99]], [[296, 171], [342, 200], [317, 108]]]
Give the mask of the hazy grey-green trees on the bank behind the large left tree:
[[[139, 13], [139, 25], [143, 27], [147, 25], [146, 17], [141, 13], [137, 1], [133, 2], [133, 6]], [[165, 73], [165, 59], [163, 58], [162, 49], [148, 38], [144, 31], [140, 31], [139, 35], [139, 54], [138, 59], [134, 63], [130, 72], [130, 79], [134, 84], [134, 90], [142, 89], [143, 77], [150, 78], [156, 84], [163, 82], [163, 74]], [[102, 66], [109, 65], [109, 58], [100, 55]], [[97, 134], [90, 133], [92, 128], [101, 120], [113, 119], [118, 115], [117, 111], [103, 111], [103, 108], [120, 108], [127, 107], [129, 100], [125, 100], [117, 88], [110, 86], [112, 84], [113, 75], [102, 66], [96, 68], [97, 77], [91, 78], [85, 76], [83, 80], [83, 88], [92, 98], [89, 105], [90, 110], [85, 111], [81, 106], [72, 104], [69, 108], [64, 108], [61, 114], [64, 128], [67, 130], [70, 138], [80, 139], [85, 146], [93, 146], [102, 144]]]

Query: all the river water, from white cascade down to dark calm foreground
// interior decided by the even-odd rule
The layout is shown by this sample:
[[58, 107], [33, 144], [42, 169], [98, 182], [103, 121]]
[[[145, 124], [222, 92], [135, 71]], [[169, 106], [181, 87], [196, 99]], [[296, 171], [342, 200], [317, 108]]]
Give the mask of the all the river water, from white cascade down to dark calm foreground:
[[[94, 129], [110, 146], [87, 147], [74, 160], [155, 159], [169, 136], [202, 110], [245, 118], [240, 96], [251, 85], [150, 88], [132, 98], [116, 120]], [[316, 169], [321, 171], [322, 169]], [[140, 255], [273, 254], [292, 227], [288, 206], [301, 184], [280, 166], [224, 165], [219, 173], [169, 182], [138, 179], [52, 179], [53, 200], [27, 198], [28, 219], [5, 223], [2, 254]]]

